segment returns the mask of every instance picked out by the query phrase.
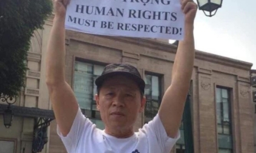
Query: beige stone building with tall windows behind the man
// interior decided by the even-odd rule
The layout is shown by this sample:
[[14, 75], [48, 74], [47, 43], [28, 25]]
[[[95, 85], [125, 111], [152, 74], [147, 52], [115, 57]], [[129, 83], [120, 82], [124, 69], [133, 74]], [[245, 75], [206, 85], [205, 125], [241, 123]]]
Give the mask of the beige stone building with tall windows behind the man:
[[[43, 153], [66, 152], [57, 136], [56, 122], [51, 121], [54, 116], [44, 79], [45, 51], [52, 18], [48, 19], [44, 30], [35, 31], [31, 39], [26, 88], [21, 90], [21, 96], [14, 104], [16, 107], [11, 106], [16, 114], [11, 127], [5, 129], [0, 124], [0, 153], [31, 153], [32, 148], [37, 149], [43, 142], [47, 142], [41, 151]], [[156, 115], [162, 95], [171, 83], [176, 45], [162, 40], [67, 31], [66, 49], [67, 83], [74, 90], [85, 116], [100, 129], [103, 129], [103, 123], [95, 109], [94, 80], [107, 63], [133, 64], [146, 81], [146, 109], [138, 117], [134, 129], [138, 130]], [[196, 51], [191, 90], [181, 126], [182, 138], [172, 153], [185, 150], [195, 153], [254, 153], [251, 66], [251, 63]], [[0, 105], [1, 114], [5, 109], [5, 103]], [[1, 123], [2, 119], [1, 115]], [[44, 123], [47, 132], [40, 129], [42, 125], [38, 120]]]

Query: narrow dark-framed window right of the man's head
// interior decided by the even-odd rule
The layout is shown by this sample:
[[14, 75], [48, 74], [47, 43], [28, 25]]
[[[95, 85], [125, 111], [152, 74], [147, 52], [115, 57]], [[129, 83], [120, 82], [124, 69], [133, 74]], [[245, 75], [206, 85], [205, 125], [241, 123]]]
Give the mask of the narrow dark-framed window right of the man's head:
[[161, 103], [161, 84], [159, 75], [146, 74], [145, 75], [145, 123], [152, 120], [159, 109]]

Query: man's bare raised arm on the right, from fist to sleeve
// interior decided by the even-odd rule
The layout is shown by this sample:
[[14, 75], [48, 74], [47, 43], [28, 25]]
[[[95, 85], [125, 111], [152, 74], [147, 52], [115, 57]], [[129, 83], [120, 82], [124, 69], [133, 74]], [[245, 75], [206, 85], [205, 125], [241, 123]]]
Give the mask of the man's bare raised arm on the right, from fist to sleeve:
[[172, 83], [166, 90], [159, 108], [159, 118], [171, 138], [176, 137], [182, 120], [195, 57], [193, 29], [197, 5], [192, 0], [181, 2], [185, 14], [185, 36], [183, 41], [179, 41], [172, 69]]

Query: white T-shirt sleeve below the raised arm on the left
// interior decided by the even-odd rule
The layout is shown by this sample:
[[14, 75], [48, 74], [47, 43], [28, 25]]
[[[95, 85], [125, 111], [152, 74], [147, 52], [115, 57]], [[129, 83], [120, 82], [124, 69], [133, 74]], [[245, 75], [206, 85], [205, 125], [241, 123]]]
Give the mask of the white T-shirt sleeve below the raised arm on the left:
[[71, 131], [66, 135], [62, 135], [60, 129], [57, 125], [57, 135], [60, 136], [62, 142], [64, 143], [65, 148], [68, 153], [75, 152], [77, 148], [77, 144], [80, 142], [80, 138], [85, 136], [84, 133], [86, 131], [91, 131], [90, 128], [93, 128], [92, 122], [87, 119], [80, 109], [77, 111], [77, 115], [74, 119], [74, 122], [71, 126]]

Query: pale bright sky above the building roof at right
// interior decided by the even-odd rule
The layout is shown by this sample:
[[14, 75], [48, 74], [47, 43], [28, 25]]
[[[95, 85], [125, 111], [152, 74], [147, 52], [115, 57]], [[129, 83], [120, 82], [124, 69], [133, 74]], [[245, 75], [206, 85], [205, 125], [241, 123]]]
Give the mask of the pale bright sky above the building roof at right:
[[195, 49], [253, 63], [252, 69], [255, 70], [255, 6], [255, 0], [223, 0], [222, 8], [212, 18], [198, 10], [195, 18]]

